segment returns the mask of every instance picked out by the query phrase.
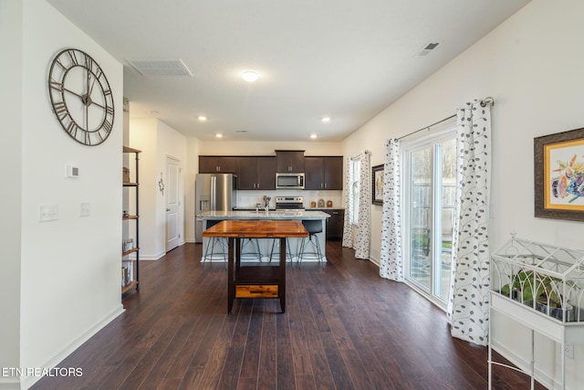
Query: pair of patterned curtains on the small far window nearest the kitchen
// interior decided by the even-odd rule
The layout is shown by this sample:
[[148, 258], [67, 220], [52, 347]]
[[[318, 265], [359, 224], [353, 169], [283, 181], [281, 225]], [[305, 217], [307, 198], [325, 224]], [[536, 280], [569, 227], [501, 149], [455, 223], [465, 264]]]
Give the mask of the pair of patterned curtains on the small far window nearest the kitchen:
[[[351, 183], [353, 182], [352, 177], [352, 164], [353, 161], [360, 162], [360, 177], [359, 177], [359, 218], [357, 220], [357, 237], [353, 240], [352, 229], [350, 226], [350, 215], [353, 210], [353, 199], [351, 191]], [[345, 203], [347, 211], [345, 213], [345, 226], [343, 228], [343, 247], [349, 247], [355, 249], [355, 258], [365, 258], [369, 259], [369, 247], [370, 247], [370, 225], [371, 225], [371, 180], [370, 180], [370, 152], [365, 151], [357, 157], [353, 157], [349, 160], [348, 172], [347, 172], [347, 202]], [[350, 172], [349, 172], [350, 171]], [[349, 215], [349, 217], [348, 217]]]

